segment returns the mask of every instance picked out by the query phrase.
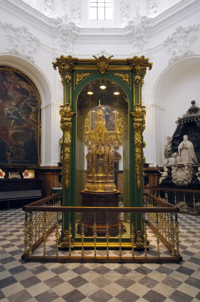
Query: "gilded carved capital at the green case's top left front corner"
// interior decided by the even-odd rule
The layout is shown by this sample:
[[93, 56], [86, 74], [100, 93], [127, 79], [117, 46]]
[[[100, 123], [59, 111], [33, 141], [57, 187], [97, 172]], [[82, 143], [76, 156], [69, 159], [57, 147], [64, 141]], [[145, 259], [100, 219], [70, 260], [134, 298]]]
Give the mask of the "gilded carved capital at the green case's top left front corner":
[[52, 62], [53, 68], [56, 70], [58, 67], [59, 74], [61, 76], [61, 82], [63, 84], [63, 75], [65, 75], [65, 83], [67, 87], [71, 84], [71, 72], [74, 68], [73, 58], [69, 54], [68, 56], [61, 55], [61, 61]]

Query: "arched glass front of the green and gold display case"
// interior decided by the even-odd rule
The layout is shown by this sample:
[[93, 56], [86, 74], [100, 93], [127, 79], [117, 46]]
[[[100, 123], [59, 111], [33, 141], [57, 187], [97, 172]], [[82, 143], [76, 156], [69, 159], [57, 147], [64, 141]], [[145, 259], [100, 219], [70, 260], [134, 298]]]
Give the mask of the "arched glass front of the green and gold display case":
[[[101, 89], [100, 86], [105, 86]], [[87, 92], [93, 92], [88, 94]], [[114, 94], [118, 92], [118, 94]], [[100, 105], [99, 105], [100, 100]], [[99, 111], [100, 110], [100, 111]], [[129, 206], [129, 104], [124, 90], [116, 83], [98, 79], [90, 82], [77, 99], [76, 122], [76, 206]], [[104, 129], [98, 143], [97, 119]], [[95, 126], [96, 125], [96, 126]], [[96, 132], [95, 132], [96, 131]], [[101, 130], [102, 131], [102, 130]], [[94, 138], [93, 133], [96, 134]], [[103, 136], [106, 138], [104, 139]], [[97, 154], [97, 156], [94, 156]], [[95, 189], [93, 189], [95, 185]], [[89, 186], [88, 186], [89, 184]], [[107, 187], [103, 191], [101, 187]], [[112, 189], [108, 189], [111, 186]], [[115, 188], [117, 191], [114, 191]], [[84, 191], [91, 188], [93, 192]], [[109, 187], [110, 188], [110, 187]], [[102, 190], [102, 191], [101, 191]], [[92, 198], [91, 198], [92, 196]], [[98, 199], [98, 200], [97, 200]], [[84, 232], [92, 236], [94, 215], [84, 214]], [[105, 236], [106, 213], [98, 213], [97, 235]], [[109, 234], [130, 238], [130, 215], [109, 213]], [[81, 233], [81, 215], [76, 215], [76, 237]]]

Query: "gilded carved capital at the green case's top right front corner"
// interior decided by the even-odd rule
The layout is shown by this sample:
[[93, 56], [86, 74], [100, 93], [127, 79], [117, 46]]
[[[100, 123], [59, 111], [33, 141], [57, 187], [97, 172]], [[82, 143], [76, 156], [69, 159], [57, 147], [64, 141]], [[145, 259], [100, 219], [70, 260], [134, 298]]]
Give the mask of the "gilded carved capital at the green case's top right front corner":
[[141, 86], [144, 84], [144, 77], [146, 75], [146, 69], [149, 67], [149, 70], [152, 69], [153, 63], [148, 62], [148, 58], [145, 58], [145, 56], [137, 57], [134, 56], [131, 62], [131, 68], [134, 71], [134, 83], [135, 87], [139, 87], [139, 84], [141, 83]]

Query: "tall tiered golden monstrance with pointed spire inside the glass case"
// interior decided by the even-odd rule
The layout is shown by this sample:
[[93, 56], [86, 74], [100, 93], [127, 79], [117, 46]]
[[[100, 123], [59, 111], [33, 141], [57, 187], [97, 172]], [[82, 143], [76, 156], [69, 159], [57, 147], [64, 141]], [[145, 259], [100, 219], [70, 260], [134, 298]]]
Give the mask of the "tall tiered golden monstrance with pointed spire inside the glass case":
[[100, 100], [91, 144], [88, 147], [87, 184], [84, 191], [115, 192], [113, 150]]

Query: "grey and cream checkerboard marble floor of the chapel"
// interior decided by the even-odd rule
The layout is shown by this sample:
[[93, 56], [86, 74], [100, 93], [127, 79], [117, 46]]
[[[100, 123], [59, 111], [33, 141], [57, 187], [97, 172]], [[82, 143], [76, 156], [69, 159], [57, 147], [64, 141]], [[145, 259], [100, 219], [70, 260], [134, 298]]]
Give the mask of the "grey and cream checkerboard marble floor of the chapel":
[[[0, 211], [1, 302], [200, 301], [200, 217], [179, 215], [180, 264], [25, 263], [24, 213]], [[154, 235], [148, 230], [151, 256]], [[47, 254], [55, 252], [54, 234]], [[39, 247], [36, 254], [41, 253]], [[161, 245], [162, 253], [168, 253]], [[80, 251], [76, 251], [80, 253]], [[87, 254], [91, 251], [87, 251]], [[104, 255], [105, 251], [99, 251]], [[113, 254], [118, 254], [118, 251]], [[123, 252], [127, 255], [127, 251]], [[164, 256], [164, 255], [163, 255]]]

